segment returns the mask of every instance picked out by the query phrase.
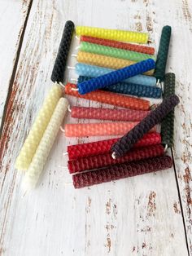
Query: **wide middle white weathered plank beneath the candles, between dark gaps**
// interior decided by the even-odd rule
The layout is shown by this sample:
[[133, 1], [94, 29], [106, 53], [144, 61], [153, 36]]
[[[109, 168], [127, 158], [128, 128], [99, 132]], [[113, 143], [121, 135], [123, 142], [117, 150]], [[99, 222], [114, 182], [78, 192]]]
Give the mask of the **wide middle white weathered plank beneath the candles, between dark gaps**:
[[[65, 139], [63, 134], [55, 141], [36, 190], [22, 197], [22, 174], [14, 169], [15, 157], [50, 89], [50, 73], [64, 22], [72, 19], [82, 25], [147, 29], [159, 42], [164, 19], [184, 29], [184, 24], [170, 15], [174, 3], [33, 1], [8, 104], [11, 123], [7, 119], [4, 126], [8, 139], [3, 144], [0, 166], [0, 255], [187, 255], [173, 169], [75, 190], [63, 167], [67, 165], [63, 152], [74, 140]], [[176, 13], [180, 4], [178, 1]], [[161, 7], [164, 16], [159, 14]], [[174, 37], [179, 47], [177, 34]], [[185, 46], [187, 40], [185, 35]], [[174, 49], [176, 65], [180, 58]], [[89, 105], [79, 99], [70, 98], [70, 102]], [[67, 117], [65, 121], [74, 120]]]

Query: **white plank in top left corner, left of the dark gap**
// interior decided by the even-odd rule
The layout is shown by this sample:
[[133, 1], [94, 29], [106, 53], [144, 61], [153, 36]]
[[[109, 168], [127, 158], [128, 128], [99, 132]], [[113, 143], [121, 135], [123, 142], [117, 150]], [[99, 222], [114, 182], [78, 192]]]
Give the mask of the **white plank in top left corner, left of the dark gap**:
[[30, 0], [0, 1], [0, 127]]

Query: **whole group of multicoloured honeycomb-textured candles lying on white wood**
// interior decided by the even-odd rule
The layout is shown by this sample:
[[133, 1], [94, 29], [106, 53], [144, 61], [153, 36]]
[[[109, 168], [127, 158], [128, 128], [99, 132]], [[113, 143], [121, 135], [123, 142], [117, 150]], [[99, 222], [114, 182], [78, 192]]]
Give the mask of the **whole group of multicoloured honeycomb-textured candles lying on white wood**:
[[[15, 161], [18, 170], [27, 170], [23, 183], [25, 190], [36, 186], [68, 111], [72, 117], [110, 122], [67, 124], [61, 128], [66, 137], [125, 134], [120, 139], [68, 146], [68, 170], [73, 174], [75, 188], [171, 167], [172, 159], [164, 156], [162, 145], [172, 146], [173, 122], [170, 124], [168, 120], [173, 120], [172, 109], [179, 102], [174, 95], [174, 74], [165, 75], [171, 28], [166, 26], [162, 30], [161, 50], [156, 57], [153, 47], [128, 43], [148, 42], [147, 33], [77, 26], [76, 34], [81, 36], [80, 51], [76, 55], [79, 78], [76, 85], [68, 82], [63, 89], [73, 33], [74, 24], [67, 21], [51, 75], [55, 85]], [[129, 96], [161, 97], [162, 89], [156, 86], [157, 81], [164, 82], [164, 101], [155, 110], [151, 110], [148, 99]], [[70, 108], [63, 95], [124, 109]], [[169, 119], [166, 120], [167, 115]], [[160, 122], [163, 127], [161, 135], [155, 129]]]

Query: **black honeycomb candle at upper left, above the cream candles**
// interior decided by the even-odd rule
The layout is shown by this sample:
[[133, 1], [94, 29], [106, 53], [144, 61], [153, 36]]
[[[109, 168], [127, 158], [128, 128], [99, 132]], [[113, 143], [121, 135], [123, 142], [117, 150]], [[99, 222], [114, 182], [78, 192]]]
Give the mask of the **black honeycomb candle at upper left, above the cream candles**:
[[68, 60], [68, 52], [71, 46], [73, 32], [74, 24], [71, 20], [68, 20], [65, 23], [63, 36], [59, 45], [59, 51], [51, 74], [51, 80], [53, 82], [63, 82], [64, 71]]

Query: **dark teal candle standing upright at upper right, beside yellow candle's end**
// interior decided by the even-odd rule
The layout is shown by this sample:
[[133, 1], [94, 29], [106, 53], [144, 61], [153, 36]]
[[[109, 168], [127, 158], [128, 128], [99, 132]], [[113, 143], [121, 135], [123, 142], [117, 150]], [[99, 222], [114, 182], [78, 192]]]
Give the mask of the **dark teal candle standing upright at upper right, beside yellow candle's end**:
[[159, 82], [164, 81], [164, 74], [166, 69], [166, 64], [168, 60], [168, 47], [171, 38], [172, 28], [170, 26], [164, 26], [161, 33], [159, 51], [155, 66], [155, 77]]

